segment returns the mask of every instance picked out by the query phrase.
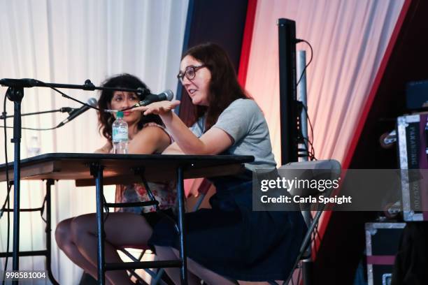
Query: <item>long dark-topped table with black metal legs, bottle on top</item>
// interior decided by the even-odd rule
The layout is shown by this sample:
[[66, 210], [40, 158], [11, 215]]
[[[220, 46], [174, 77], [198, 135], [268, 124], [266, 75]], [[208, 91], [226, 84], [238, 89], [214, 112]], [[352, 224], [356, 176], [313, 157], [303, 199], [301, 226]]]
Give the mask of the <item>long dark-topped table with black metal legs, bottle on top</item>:
[[[50, 187], [54, 180], [76, 180], [76, 186], [95, 185], [97, 195], [97, 229], [104, 233], [103, 185], [129, 184], [141, 182], [177, 181], [178, 228], [180, 231], [180, 259], [177, 261], [149, 261], [144, 263], [105, 263], [104, 235], [98, 235], [97, 265], [99, 284], [105, 284], [106, 270], [122, 270], [129, 268], [164, 268], [180, 267], [181, 284], [187, 284], [187, 263], [184, 220], [184, 184], [183, 180], [197, 177], [215, 177], [234, 175], [243, 169], [243, 163], [254, 161], [254, 156], [231, 155], [166, 155], [166, 154], [83, 154], [83, 153], [51, 153], [41, 154], [28, 159], [22, 159], [20, 165], [21, 180], [46, 180], [46, 250], [19, 251], [12, 254], [0, 254], [18, 258], [19, 256], [44, 255], [48, 276], [53, 284], [58, 284], [50, 270]], [[13, 162], [8, 163], [10, 180], [13, 180]], [[6, 165], [0, 165], [0, 182], [6, 181]], [[114, 204], [108, 204], [114, 205]], [[28, 210], [28, 209], [27, 209]], [[11, 211], [11, 210], [9, 210]], [[18, 219], [13, 236], [19, 236], [19, 212], [13, 209]], [[18, 239], [19, 240], [19, 239]]]

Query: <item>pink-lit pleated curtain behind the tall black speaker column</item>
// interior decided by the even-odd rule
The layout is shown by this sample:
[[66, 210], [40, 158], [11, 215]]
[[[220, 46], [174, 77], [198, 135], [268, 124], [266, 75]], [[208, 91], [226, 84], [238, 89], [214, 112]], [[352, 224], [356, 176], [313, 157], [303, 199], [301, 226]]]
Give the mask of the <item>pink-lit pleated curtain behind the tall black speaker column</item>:
[[[313, 46], [308, 113], [318, 159], [342, 161], [404, 0], [259, 0], [245, 88], [264, 110], [280, 161], [278, 18]], [[304, 43], [297, 50], [311, 52]], [[299, 78], [299, 75], [297, 75]], [[287, 138], [283, 138], [287, 139]]]

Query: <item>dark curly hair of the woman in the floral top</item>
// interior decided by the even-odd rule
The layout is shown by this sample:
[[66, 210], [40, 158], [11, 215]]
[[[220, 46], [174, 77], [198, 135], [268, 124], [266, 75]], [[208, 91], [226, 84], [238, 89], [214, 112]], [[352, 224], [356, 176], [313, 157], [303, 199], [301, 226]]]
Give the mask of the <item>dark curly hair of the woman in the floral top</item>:
[[[136, 76], [130, 75], [127, 73], [122, 73], [119, 75], [114, 75], [110, 78], [107, 78], [106, 81], [102, 83], [103, 87], [122, 87], [129, 89], [138, 89], [143, 88], [146, 89], [144, 94], [150, 93], [150, 89]], [[98, 108], [101, 110], [109, 109], [109, 104], [111, 99], [113, 98], [114, 91], [111, 90], [102, 90], [101, 96], [99, 96], [98, 100]], [[145, 95], [139, 95], [138, 98], [143, 100]], [[113, 124], [115, 117], [109, 112], [99, 112], [98, 113], [98, 125], [99, 132], [102, 133], [104, 137], [108, 140], [111, 140], [111, 125]], [[157, 124], [162, 125], [162, 120], [157, 115], [148, 115], [141, 116], [141, 119], [137, 123], [137, 129], [143, 129], [144, 124], [148, 122], [155, 122]]]

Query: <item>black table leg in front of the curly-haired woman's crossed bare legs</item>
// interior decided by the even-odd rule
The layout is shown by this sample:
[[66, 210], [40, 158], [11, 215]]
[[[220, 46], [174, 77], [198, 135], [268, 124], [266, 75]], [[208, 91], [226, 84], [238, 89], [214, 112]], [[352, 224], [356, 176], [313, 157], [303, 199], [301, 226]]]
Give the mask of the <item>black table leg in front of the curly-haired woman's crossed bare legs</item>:
[[103, 169], [104, 166], [94, 163], [91, 166], [91, 173], [95, 177], [95, 188], [97, 189], [97, 270], [98, 284], [106, 284], [106, 262], [104, 260], [104, 193], [103, 193]]

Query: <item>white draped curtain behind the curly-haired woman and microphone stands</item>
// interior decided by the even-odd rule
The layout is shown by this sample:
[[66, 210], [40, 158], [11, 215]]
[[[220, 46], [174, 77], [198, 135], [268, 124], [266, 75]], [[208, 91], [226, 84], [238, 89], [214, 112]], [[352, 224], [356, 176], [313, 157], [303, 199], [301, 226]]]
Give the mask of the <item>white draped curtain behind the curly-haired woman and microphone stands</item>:
[[[110, 75], [131, 73], [140, 77], [152, 92], [176, 90], [187, 6], [188, 0], [0, 0], [0, 78], [36, 78], [69, 84], [83, 84], [89, 78], [94, 85], [100, 85]], [[99, 96], [96, 92], [62, 91], [80, 101]], [[6, 87], [1, 87], [1, 103], [5, 92]], [[23, 113], [66, 106], [79, 107], [78, 103], [45, 88], [25, 89], [22, 100]], [[7, 112], [13, 114], [10, 101]], [[22, 126], [48, 128], [66, 116], [55, 113], [22, 117]], [[12, 124], [8, 119], [8, 125]], [[9, 161], [13, 161], [12, 134], [9, 130]], [[104, 144], [93, 110], [55, 131], [22, 131], [22, 158], [29, 156], [31, 136], [38, 140], [42, 154], [93, 152]], [[5, 161], [3, 141], [1, 129], [0, 163]], [[113, 187], [106, 188], [106, 198], [113, 200]], [[1, 183], [0, 189], [3, 204], [6, 184]], [[22, 182], [21, 207], [40, 207], [43, 196], [42, 182]], [[77, 284], [81, 270], [57, 249], [53, 237], [55, 224], [94, 210], [93, 187], [76, 188], [73, 181], [55, 184], [52, 268], [60, 284]], [[4, 214], [0, 219], [1, 251], [6, 251], [6, 220]], [[43, 249], [44, 244], [44, 224], [39, 214], [21, 214], [20, 249]], [[44, 263], [43, 257], [20, 258], [20, 269], [44, 270]], [[4, 258], [1, 269], [3, 265]]]

